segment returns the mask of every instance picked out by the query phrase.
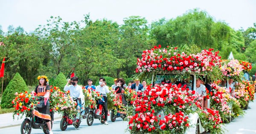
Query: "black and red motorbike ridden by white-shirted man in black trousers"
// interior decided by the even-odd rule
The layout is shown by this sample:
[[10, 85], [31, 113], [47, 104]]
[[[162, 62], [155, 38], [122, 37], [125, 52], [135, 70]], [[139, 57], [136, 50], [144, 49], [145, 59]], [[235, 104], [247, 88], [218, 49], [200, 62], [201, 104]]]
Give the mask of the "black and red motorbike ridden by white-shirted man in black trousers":
[[[100, 122], [102, 124], [104, 124], [104, 118], [105, 118], [105, 112], [103, 110], [103, 103], [101, 101], [99, 101], [99, 109], [97, 110], [96, 108], [90, 108], [88, 110], [88, 114], [87, 114], [87, 125], [93, 125], [93, 120], [94, 119], [99, 119]], [[99, 114], [97, 114], [97, 112], [99, 112]]]

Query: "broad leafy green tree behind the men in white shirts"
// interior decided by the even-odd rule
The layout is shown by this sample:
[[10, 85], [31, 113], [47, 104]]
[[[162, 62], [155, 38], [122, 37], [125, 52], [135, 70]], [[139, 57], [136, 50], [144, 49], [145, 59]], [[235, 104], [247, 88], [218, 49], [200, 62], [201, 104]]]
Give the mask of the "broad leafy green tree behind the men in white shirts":
[[83, 84], [89, 78], [97, 81], [102, 75], [113, 76], [118, 66], [113, 49], [118, 46], [119, 25], [108, 20], [87, 19], [89, 23], [76, 33], [75, 41], [81, 57], [75, 72]]

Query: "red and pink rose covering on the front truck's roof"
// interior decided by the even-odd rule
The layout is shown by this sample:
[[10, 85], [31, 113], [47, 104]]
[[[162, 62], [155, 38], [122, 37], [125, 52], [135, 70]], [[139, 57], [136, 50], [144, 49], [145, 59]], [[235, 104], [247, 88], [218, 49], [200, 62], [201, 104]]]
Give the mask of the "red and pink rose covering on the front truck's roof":
[[212, 71], [214, 66], [221, 66], [221, 57], [213, 49], [202, 50], [198, 54], [185, 54], [175, 48], [154, 47], [143, 51], [142, 58], [137, 59], [136, 72], [168, 71], [186, 74], [189, 72]]

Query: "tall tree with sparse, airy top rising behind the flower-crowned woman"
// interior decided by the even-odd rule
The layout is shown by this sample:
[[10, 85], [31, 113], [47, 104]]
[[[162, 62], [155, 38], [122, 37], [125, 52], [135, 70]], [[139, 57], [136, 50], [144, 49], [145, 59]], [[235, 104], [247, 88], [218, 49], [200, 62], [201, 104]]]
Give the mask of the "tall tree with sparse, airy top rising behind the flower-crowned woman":
[[[61, 17], [51, 17], [47, 20], [46, 26], [40, 26], [36, 29], [36, 33], [44, 38], [47, 46], [50, 46], [49, 51], [50, 61], [45, 66], [45, 70], [49, 70], [54, 74], [71, 72], [77, 66], [79, 57], [77, 47], [74, 44], [75, 32], [79, 30], [79, 24], [76, 21], [68, 23], [63, 22]], [[67, 75], [69, 76], [69, 75]]]

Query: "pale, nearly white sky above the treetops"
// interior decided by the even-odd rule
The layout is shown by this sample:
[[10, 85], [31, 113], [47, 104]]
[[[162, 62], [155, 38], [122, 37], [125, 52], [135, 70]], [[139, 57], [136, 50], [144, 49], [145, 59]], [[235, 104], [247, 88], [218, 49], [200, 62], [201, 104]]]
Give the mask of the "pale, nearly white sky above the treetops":
[[4, 32], [9, 25], [30, 32], [47, 24], [51, 16], [71, 22], [89, 13], [93, 21], [107, 19], [122, 25], [125, 17], [141, 16], [151, 23], [195, 8], [235, 30], [256, 23], [256, 0], [0, 0], [0, 25]]

